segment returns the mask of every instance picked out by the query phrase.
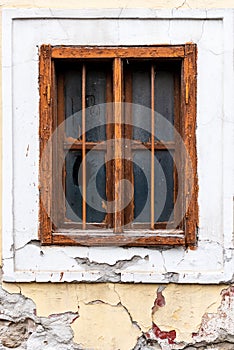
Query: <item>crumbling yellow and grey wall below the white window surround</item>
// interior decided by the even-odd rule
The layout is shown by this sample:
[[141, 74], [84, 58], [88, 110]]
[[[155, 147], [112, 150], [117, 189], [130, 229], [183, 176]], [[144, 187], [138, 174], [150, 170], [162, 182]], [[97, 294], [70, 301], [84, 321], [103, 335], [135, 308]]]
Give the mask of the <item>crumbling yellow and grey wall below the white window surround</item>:
[[[59, 293], [50, 295], [52, 290], [48, 288], [48, 295], [42, 293], [40, 301], [38, 295], [39, 308], [37, 308], [31, 299], [23, 296], [22, 290], [26, 286], [29, 285], [22, 285], [20, 293], [14, 294], [0, 289], [0, 349], [234, 349], [234, 286], [223, 289], [221, 301], [218, 300], [220, 298], [216, 300], [213, 298], [213, 303], [210, 305], [209, 297], [203, 295], [204, 302], [200, 300], [200, 307], [197, 304], [197, 295], [199, 290], [202, 296], [201, 289], [190, 286], [190, 308], [193, 311], [206, 310], [198, 324], [196, 324], [197, 317], [194, 317], [193, 311], [189, 310], [187, 294], [189, 286], [183, 286], [185, 291], [183, 297], [182, 294], [178, 294], [176, 285], [169, 285], [166, 289], [164, 286], [159, 286], [157, 290], [153, 285], [149, 288], [143, 285], [141, 290], [145, 290], [145, 293], [140, 294], [139, 285], [100, 284], [91, 285], [90, 289], [87, 285], [81, 284], [76, 290], [76, 298], [75, 294], [71, 293], [72, 300], [68, 300], [67, 305], [63, 304], [64, 309], [70, 306], [73, 311], [56, 313], [48, 317], [38, 315], [39, 311], [43, 313], [40, 305], [46, 306], [48, 310], [52, 297], [55, 300], [57, 297], [58, 307], [51, 305], [51, 310], [62, 311], [59, 306]], [[31, 289], [32, 294], [33, 287], [34, 285]], [[217, 291], [217, 287], [214, 290]], [[194, 294], [192, 289], [195, 291]], [[30, 288], [25, 288], [26, 294], [29, 290]], [[170, 293], [167, 290], [170, 290]], [[64, 295], [64, 291], [60, 292]], [[178, 295], [182, 299], [180, 302]], [[48, 297], [48, 300], [43, 299], [44, 297]], [[74, 309], [78, 311], [74, 312]], [[181, 330], [183, 317], [184, 326]], [[191, 333], [187, 333], [186, 336], [186, 323], [189, 322]], [[72, 328], [76, 334], [74, 339]]]

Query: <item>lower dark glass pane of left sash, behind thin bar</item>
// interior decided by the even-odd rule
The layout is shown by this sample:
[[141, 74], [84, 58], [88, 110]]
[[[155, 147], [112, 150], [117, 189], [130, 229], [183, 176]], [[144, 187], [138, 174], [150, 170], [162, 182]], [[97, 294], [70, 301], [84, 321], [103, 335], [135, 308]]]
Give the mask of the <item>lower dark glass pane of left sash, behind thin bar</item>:
[[[86, 155], [87, 205], [86, 222], [100, 223], [105, 219], [103, 209], [106, 200], [106, 167], [104, 152], [91, 151]], [[66, 156], [66, 217], [71, 221], [82, 221], [82, 155], [81, 151], [70, 151]], [[101, 165], [103, 164], [103, 165]]]

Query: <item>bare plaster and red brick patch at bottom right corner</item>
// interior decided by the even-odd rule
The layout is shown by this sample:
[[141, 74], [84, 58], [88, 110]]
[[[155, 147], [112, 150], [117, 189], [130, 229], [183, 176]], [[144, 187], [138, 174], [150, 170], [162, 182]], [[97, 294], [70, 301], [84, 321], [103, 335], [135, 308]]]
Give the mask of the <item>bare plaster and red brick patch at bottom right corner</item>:
[[[165, 300], [157, 292], [155, 305], [158, 301]], [[159, 305], [158, 305], [159, 306]], [[161, 307], [162, 307], [161, 306]], [[155, 309], [157, 311], [157, 309]], [[230, 286], [222, 291], [221, 305], [217, 313], [206, 313], [201, 321], [199, 331], [192, 334], [191, 343], [176, 342], [176, 331], [162, 331], [154, 322], [152, 328], [145, 332], [137, 341], [133, 350], [149, 349], [214, 349], [214, 350], [233, 350], [234, 349], [234, 286]]]

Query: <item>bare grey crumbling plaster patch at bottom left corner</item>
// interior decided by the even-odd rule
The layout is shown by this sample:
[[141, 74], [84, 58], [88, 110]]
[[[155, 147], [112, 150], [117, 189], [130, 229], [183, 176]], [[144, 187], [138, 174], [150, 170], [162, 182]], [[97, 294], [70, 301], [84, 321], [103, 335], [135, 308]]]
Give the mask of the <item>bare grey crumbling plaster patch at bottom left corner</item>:
[[78, 316], [66, 312], [39, 317], [31, 299], [0, 288], [0, 349], [79, 350], [70, 326]]

